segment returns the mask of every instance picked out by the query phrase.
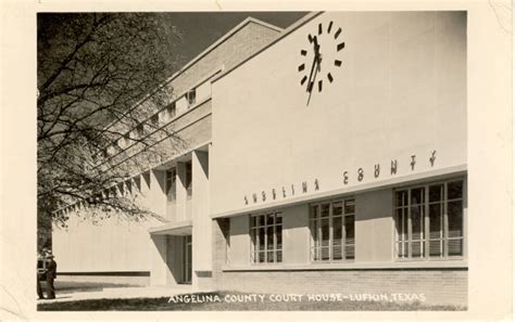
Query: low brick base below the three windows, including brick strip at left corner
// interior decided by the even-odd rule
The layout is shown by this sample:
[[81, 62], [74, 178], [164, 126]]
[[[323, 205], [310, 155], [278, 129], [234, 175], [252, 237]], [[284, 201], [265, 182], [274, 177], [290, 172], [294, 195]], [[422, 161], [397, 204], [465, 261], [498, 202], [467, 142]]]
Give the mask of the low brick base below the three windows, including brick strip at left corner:
[[213, 285], [216, 289], [278, 294], [424, 294], [426, 304], [467, 305], [466, 269], [223, 271], [226, 221], [214, 220], [213, 227]]

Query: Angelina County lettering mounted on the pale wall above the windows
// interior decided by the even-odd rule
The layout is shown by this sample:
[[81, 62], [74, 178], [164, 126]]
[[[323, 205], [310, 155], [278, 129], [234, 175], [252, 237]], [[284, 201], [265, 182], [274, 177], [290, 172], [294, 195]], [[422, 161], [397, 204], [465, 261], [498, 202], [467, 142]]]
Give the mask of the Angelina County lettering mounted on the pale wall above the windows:
[[[437, 151], [434, 150], [431, 151], [430, 153], [430, 156], [429, 156], [429, 166], [432, 168], [435, 166], [435, 162], [437, 159]], [[398, 167], [399, 167], [399, 160], [398, 159], [392, 159], [390, 162], [390, 176], [395, 176], [397, 175], [397, 170], [398, 170]], [[409, 165], [410, 167], [410, 170], [411, 171], [414, 171], [415, 170], [415, 165], [417, 164], [417, 158], [416, 158], [416, 155], [411, 155], [410, 158], [406, 160], [406, 164]], [[352, 175], [354, 173], [354, 175]], [[378, 179], [380, 176], [381, 176], [381, 167], [380, 167], [380, 164], [375, 164], [374, 165], [374, 168], [370, 169], [370, 172], [368, 176], [370, 176], [370, 178], [373, 177], [374, 179]], [[388, 171], [387, 171], [388, 173]], [[353, 180], [355, 179], [355, 181], [357, 182], [362, 182], [367, 176], [367, 170], [363, 167], [359, 167], [355, 172], [354, 171], [349, 171], [349, 170], [344, 170], [343, 173], [342, 173], [342, 182], [343, 182], [343, 185], [347, 185], [349, 184], [349, 181], [350, 180]], [[321, 182], [318, 179], [315, 179], [313, 181], [303, 181], [301, 182], [299, 185], [299, 190], [297, 191], [298, 194], [306, 194], [309, 192], [316, 192], [321, 189]], [[296, 184], [290, 184], [289, 188], [282, 185], [280, 189], [279, 189], [281, 192], [282, 192], [282, 198], [286, 198], [288, 196], [294, 196], [296, 195]], [[261, 198], [258, 197], [258, 195], [261, 194]], [[277, 199], [279, 196], [277, 195], [277, 191], [275, 188], [271, 189], [271, 190], [263, 190], [261, 191], [260, 193], [253, 193], [252, 194], [252, 204], [258, 204], [259, 202], [266, 202], [267, 199]], [[244, 205], [250, 205], [250, 201], [249, 201], [249, 197], [247, 195], [243, 196], [243, 203]]]

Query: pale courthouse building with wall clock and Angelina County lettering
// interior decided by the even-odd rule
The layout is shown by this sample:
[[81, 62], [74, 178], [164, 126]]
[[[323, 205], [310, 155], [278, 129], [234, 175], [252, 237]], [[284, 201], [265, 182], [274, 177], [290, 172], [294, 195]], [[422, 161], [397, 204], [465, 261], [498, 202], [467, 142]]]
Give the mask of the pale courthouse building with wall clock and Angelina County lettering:
[[186, 144], [121, 182], [166, 221], [63, 209], [61, 273], [466, 304], [466, 47], [465, 12], [246, 20], [148, 119]]

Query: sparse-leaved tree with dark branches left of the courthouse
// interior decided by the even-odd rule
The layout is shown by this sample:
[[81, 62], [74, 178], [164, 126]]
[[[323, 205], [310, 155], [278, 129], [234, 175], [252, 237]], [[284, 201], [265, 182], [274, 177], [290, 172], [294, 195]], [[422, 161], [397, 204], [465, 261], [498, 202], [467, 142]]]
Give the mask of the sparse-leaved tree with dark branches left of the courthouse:
[[[136, 158], [121, 164], [110, 150], [128, 140], [146, 151], [143, 158], [163, 157], [163, 151], [152, 150], [155, 137], [175, 134], [138, 125], [171, 100], [165, 80], [175, 67], [171, 57], [178, 40], [180, 34], [160, 14], [38, 14], [40, 247], [48, 244], [41, 234], [48, 235], [50, 220], [65, 224], [66, 216], [55, 210], [66, 205], [130, 219], [155, 215], [134, 198], [109, 194], [145, 166]], [[133, 127], [139, 136], [127, 133]], [[149, 136], [156, 130], [165, 133]]]

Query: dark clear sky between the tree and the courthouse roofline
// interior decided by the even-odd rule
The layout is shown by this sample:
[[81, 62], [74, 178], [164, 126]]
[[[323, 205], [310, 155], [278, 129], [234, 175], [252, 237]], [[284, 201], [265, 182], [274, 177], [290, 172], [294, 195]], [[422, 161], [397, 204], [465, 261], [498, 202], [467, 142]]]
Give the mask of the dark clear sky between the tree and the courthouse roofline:
[[219, 37], [252, 16], [277, 27], [287, 28], [307, 12], [180, 12], [165, 13], [166, 20], [183, 34], [176, 47], [177, 69], [204, 51]]

